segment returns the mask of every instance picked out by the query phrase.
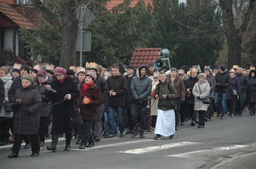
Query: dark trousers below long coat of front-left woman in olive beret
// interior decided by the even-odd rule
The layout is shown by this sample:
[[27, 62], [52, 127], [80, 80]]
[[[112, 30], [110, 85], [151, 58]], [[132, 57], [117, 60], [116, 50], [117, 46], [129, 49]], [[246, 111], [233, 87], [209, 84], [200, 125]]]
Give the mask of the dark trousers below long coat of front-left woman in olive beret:
[[[23, 134], [15, 134], [14, 138], [14, 144], [13, 144], [13, 153], [19, 153], [20, 146], [22, 144], [22, 141], [26, 135]], [[33, 134], [29, 135], [31, 139], [31, 149], [32, 153], [39, 153], [40, 151], [40, 145], [39, 145], [39, 135], [38, 134]]]

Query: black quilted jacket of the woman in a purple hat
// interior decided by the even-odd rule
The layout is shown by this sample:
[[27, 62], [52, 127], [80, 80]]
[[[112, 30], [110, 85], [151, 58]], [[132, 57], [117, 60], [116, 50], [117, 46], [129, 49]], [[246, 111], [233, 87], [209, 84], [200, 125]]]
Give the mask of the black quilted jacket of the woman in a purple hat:
[[48, 80], [46, 80], [43, 83], [39, 83], [38, 77], [34, 79], [35, 82], [37, 83], [37, 86], [35, 88], [39, 91], [42, 102], [43, 102], [42, 109], [40, 110], [40, 117], [51, 117], [51, 114], [52, 114], [52, 108], [48, 108], [52, 106], [52, 99], [49, 99], [44, 95], [46, 91], [45, 85], [49, 85], [49, 83], [51, 82], [51, 79], [52, 78], [48, 77]]

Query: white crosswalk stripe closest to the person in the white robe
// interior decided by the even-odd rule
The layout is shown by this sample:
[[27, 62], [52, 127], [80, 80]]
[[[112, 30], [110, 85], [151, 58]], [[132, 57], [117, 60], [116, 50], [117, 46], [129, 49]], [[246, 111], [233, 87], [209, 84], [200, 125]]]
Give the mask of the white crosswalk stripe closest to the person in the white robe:
[[131, 154], [143, 154], [148, 152], [154, 152], [159, 150], [164, 150], [172, 147], [184, 146], [184, 145], [191, 145], [191, 144], [198, 144], [196, 142], [180, 142], [180, 143], [171, 143], [165, 144], [161, 146], [153, 146], [153, 147], [145, 147], [140, 149], [133, 149], [133, 150], [125, 150], [125, 151], [118, 151], [119, 153], [131, 153]]

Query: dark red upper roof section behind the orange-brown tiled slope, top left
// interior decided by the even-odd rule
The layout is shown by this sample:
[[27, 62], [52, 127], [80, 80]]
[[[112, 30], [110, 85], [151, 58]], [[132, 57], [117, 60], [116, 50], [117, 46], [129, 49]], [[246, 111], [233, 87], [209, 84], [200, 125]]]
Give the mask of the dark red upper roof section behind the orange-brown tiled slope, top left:
[[27, 20], [34, 24], [38, 29], [42, 28], [40, 25], [41, 18], [39, 17], [39, 13], [36, 8], [32, 7], [32, 5], [12, 4], [10, 6], [20, 15], [24, 16]]

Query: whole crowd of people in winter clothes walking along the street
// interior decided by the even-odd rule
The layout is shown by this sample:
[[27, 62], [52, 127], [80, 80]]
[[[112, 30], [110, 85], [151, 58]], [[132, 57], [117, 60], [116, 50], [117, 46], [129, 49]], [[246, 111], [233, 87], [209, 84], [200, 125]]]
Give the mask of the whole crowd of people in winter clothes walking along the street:
[[[204, 128], [212, 117], [224, 119], [242, 116], [250, 108], [256, 111], [255, 68], [245, 70], [223, 65], [201, 70], [193, 65], [188, 72], [154, 63], [142, 64], [138, 70], [126, 66], [121, 74], [118, 64], [104, 72], [97, 63], [86, 67], [70, 66], [69, 70], [54, 65], [14, 64], [12, 75], [0, 68], [0, 146], [13, 143], [10, 158], [18, 157], [23, 140], [38, 156], [48, 126], [52, 121], [52, 144], [47, 150], [56, 152], [58, 138], [65, 133], [70, 150], [71, 138], [77, 138], [79, 149], [95, 146], [103, 137], [131, 134], [145, 138], [144, 132], [174, 138], [179, 125], [191, 120], [190, 126]], [[10, 103], [12, 110], [6, 108]], [[83, 125], [71, 128], [70, 117], [81, 114]], [[128, 129], [125, 132], [125, 129]], [[11, 129], [12, 138], [9, 139]], [[73, 136], [72, 136], [73, 135]]]

